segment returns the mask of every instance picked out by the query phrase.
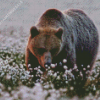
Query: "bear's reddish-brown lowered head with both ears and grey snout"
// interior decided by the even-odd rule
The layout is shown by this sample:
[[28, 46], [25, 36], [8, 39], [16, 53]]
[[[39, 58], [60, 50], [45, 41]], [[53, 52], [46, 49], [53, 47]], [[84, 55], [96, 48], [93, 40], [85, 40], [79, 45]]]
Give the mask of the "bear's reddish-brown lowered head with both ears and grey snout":
[[30, 33], [28, 48], [37, 58], [39, 64], [45, 68], [45, 64], [50, 65], [53, 58], [61, 51], [63, 29], [36, 28], [33, 26]]

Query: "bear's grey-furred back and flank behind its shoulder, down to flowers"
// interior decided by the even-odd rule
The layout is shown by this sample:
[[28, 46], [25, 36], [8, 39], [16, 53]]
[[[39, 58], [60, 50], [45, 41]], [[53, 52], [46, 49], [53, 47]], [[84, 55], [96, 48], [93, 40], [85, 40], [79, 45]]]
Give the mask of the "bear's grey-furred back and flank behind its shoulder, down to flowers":
[[69, 9], [63, 13], [66, 19], [70, 21], [70, 27], [76, 38], [75, 49], [77, 64], [84, 63], [87, 65], [90, 62], [90, 66], [93, 66], [99, 47], [97, 28], [93, 21], [81, 10]]

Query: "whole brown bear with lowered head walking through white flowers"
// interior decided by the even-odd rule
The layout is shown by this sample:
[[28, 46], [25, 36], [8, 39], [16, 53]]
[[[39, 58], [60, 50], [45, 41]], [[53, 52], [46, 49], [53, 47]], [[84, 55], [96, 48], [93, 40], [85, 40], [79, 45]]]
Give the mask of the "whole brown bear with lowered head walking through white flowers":
[[26, 47], [25, 61], [34, 68], [59, 63], [67, 59], [67, 66], [76, 64], [89, 70], [93, 67], [99, 45], [97, 29], [92, 20], [81, 10], [61, 12], [49, 9], [31, 27]]

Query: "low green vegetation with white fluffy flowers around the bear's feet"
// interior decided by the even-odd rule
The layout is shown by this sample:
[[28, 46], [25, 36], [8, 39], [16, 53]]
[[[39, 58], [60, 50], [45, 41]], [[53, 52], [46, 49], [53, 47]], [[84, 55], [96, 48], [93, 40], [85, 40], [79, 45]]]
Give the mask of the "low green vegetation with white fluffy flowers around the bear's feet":
[[[77, 79], [71, 69], [62, 66], [64, 72], [52, 70], [55, 65], [46, 69], [34, 68], [36, 76], [30, 75], [25, 67], [25, 55], [10, 49], [0, 50], [0, 100], [60, 100], [64, 98], [100, 99], [100, 65], [92, 70], [87, 84], [83, 85], [82, 73]], [[99, 63], [99, 60], [97, 61]], [[65, 63], [65, 62], [63, 62]], [[77, 70], [77, 67], [74, 68]], [[34, 77], [40, 77], [36, 82]]]

